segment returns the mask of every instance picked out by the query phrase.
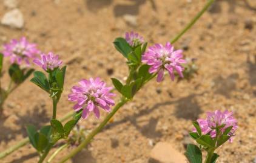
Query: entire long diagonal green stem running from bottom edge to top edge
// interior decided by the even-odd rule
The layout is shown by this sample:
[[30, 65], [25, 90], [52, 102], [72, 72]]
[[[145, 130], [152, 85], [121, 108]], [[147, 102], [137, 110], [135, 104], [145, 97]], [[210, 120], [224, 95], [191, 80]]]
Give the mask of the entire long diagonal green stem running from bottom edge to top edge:
[[[191, 28], [195, 22], [201, 17], [201, 15], [204, 13], [204, 11], [207, 10], [207, 8], [214, 2], [214, 0], [209, 0], [207, 1], [206, 5], [204, 5], [203, 9], [195, 16], [194, 19], [192, 19], [192, 21], [174, 38], [172, 39], [170, 42], [171, 43], [175, 43], [178, 39], [180, 39], [181, 36], [183, 36], [184, 33], [186, 33], [187, 30], [189, 30], [189, 28]], [[153, 75], [150, 79], [154, 78], [156, 76]], [[149, 80], [147, 80], [145, 83], [149, 82]], [[113, 109], [113, 111], [107, 115], [107, 117], [105, 118], [105, 120], [99, 124], [99, 126], [93, 130], [89, 136], [87, 136], [87, 138], [74, 150], [72, 150], [72, 152], [69, 153], [69, 155], [65, 156], [59, 163], [62, 162], [66, 162], [68, 159], [72, 158], [73, 156], [75, 156], [78, 152], [80, 152], [81, 150], [83, 150], [84, 147], [86, 147], [86, 145], [91, 141], [91, 139], [101, 130], [103, 129], [103, 127], [107, 124], [107, 121], [110, 120], [111, 117], [113, 117], [113, 115], [116, 113], [116, 111], [118, 109], [120, 109], [121, 106], [123, 106], [127, 101], [123, 102], [123, 103], [118, 103], [116, 105], [116, 107]], [[121, 105], [120, 105], [121, 104]]]

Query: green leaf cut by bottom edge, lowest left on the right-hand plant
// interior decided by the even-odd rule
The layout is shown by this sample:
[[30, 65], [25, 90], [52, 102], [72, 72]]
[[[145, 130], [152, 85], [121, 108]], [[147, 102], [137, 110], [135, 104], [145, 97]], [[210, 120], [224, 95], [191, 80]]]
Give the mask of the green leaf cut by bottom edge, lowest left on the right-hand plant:
[[201, 150], [194, 144], [187, 145], [187, 150], [184, 155], [190, 163], [201, 163], [203, 161]]

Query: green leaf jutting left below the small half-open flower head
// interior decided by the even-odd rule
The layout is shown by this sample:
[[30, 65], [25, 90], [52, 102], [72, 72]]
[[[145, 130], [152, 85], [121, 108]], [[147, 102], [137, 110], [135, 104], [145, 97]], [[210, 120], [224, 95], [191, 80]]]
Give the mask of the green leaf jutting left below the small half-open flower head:
[[34, 74], [34, 78], [32, 78], [30, 82], [35, 83], [40, 88], [44, 89], [44, 91], [49, 92], [50, 85], [44, 73], [40, 71], [35, 71], [33, 74]]

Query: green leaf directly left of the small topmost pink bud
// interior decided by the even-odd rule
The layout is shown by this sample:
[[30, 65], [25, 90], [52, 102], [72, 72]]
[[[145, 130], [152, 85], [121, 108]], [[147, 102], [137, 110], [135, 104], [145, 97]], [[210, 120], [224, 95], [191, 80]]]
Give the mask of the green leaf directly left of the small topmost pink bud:
[[113, 42], [115, 45], [116, 50], [118, 50], [124, 57], [128, 57], [128, 54], [132, 51], [129, 43], [126, 42], [126, 39], [122, 37], [118, 37]]

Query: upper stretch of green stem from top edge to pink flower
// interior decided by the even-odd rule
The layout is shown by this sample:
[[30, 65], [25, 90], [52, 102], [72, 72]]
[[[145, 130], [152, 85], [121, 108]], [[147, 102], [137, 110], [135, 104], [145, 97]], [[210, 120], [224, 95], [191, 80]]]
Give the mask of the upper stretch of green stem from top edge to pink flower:
[[214, 2], [215, 0], [209, 0], [203, 7], [203, 9], [195, 16], [194, 19], [192, 19], [189, 24], [186, 25], [186, 27], [180, 31], [180, 33], [177, 34], [177, 36], [174, 37], [174, 39], [172, 39], [170, 41], [170, 43], [174, 43], [176, 42], [178, 39], [180, 39], [181, 36], [183, 36], [184, 33], [186, 33], [187, 30], [189, 30], [194, 24], [195, 22], [197, 22], [197, 20], [203, 15], [203, 13], [207, 10], [207, 8], [209, 8], [212, 3]]

